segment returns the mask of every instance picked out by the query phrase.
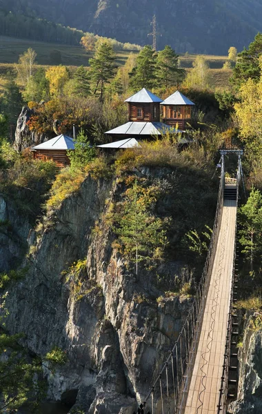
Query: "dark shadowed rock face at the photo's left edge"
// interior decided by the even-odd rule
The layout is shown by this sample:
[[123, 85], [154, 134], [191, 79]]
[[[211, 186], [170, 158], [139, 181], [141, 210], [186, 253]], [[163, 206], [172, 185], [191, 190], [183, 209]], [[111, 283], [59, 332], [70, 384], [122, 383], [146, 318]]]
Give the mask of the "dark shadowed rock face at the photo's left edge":
[[21, 259], [29, 230], [28, 221], [0, 194], [0, 273], [10, 270]]

